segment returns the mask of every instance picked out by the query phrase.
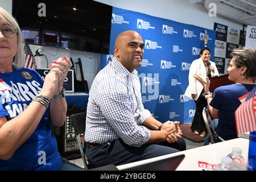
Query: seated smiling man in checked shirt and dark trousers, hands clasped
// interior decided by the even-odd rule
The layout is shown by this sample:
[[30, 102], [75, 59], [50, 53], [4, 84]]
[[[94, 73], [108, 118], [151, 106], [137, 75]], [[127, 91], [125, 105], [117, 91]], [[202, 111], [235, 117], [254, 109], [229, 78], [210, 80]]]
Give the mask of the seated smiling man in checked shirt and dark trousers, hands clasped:
[[185, 150], [179, 122], [157, 121], [144, 109], [136, 68], [144, 43], [135, 31], [115, 40], [114, 57], [95, 77], [86, 115], [90, 167], [121, 165]]

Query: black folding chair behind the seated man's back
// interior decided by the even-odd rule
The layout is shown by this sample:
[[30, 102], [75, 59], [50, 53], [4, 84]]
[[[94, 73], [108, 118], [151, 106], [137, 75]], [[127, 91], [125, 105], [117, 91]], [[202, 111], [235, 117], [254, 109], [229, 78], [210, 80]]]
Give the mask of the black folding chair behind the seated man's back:
[[[89, 169], [88, 161], [86, 159], [85, 152], [82, 148], [81, 135], [84, 136], [85, 133], [85, 121], [86, 121], [86, 111], [78, 114], [71, 115], [73, 127], [75, 129], [77, 144], [79, 145], [79, 150], [82, 157], [82, 162], [84, 163], [84, 168]], [[85, 143], [84, 143], [85, 146]]]

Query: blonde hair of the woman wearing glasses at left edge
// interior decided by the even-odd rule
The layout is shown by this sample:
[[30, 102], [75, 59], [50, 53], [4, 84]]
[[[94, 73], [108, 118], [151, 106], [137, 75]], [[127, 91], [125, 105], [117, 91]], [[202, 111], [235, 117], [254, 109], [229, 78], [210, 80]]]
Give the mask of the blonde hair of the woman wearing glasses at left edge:
[[20, 31], [19, 24], [15, 20], [15, 18], [2, 7], [0, 7], [0, 18], [3, 19], [10, 26], [18, 28], [17, 51], [13, 58], [13, 65], [15, 65], [16, 68], [22, 68], [25, 64], [24, 39], [22, 36], [22, 32]]

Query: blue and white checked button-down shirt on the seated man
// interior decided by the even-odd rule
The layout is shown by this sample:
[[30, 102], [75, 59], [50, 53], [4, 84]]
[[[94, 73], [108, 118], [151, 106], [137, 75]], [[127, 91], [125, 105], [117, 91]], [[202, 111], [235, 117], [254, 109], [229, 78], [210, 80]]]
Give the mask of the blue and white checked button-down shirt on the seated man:
[[106, 143], [122, 138], [130, 146], [142, 146], [150, 138], [150, 130], [142, 126], [150, 115], [142, 105], [137, 71], [130, 73], [113, 57], [90, 89], [85, 142]]

